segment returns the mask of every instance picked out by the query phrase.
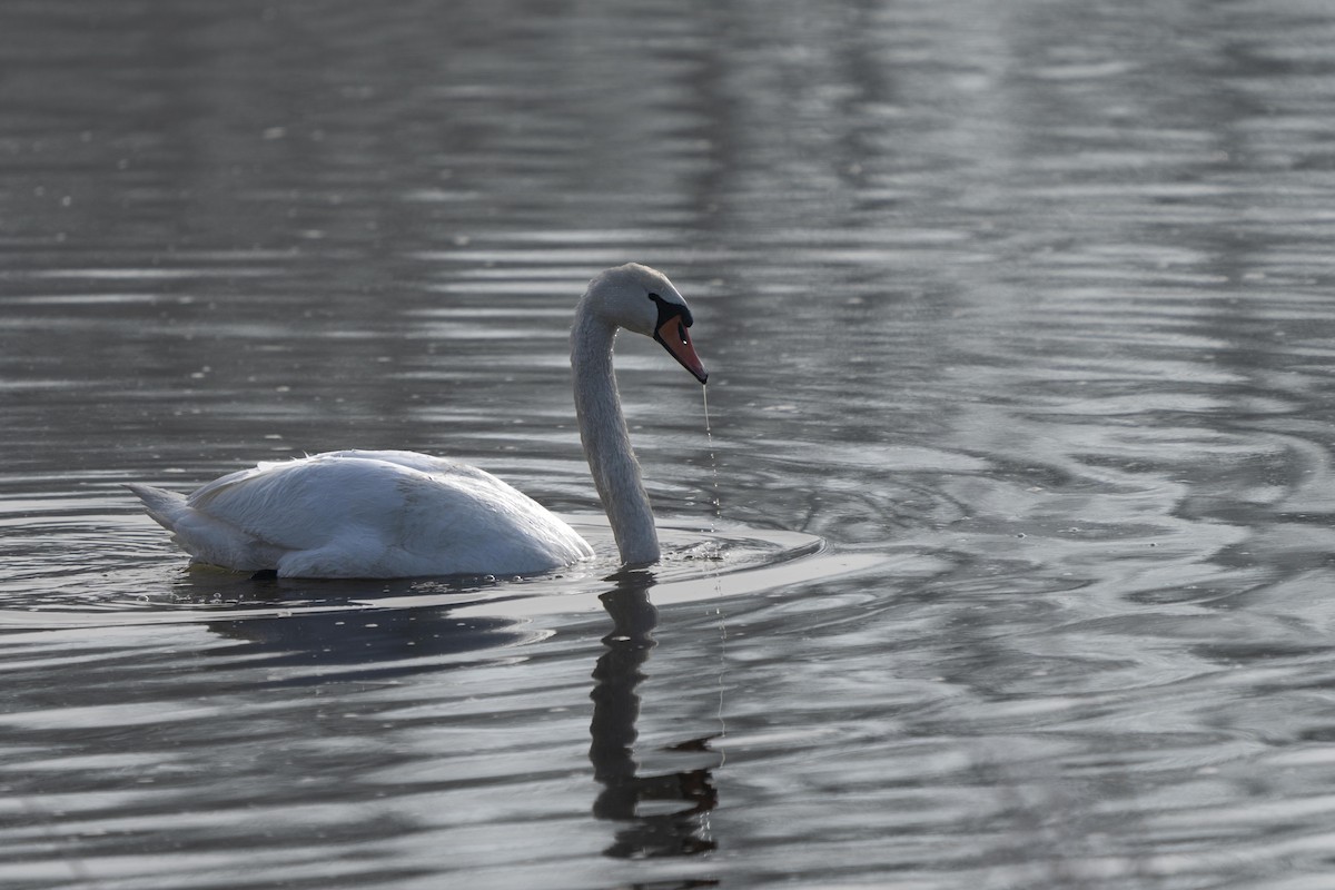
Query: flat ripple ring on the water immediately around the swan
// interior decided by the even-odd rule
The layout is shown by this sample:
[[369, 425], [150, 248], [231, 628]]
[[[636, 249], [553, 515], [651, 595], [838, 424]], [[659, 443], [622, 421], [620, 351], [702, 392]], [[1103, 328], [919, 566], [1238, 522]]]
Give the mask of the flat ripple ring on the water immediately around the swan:
[[[0, 628], [111, 627], [270, 619], [342, 612], [447, 607], [501, 618], [601, 608], [597, 596], [617, 580], [615, 544], [606, 519], [570, 516], [594, 544], [595, 558], [531, 576], [400, 580], [262, 579], [191, 566], [142, 518], [77, 515], [28, 523], [47, 547], [16, 559], [0, 583]], [[107, 524], [101, 524], [107, 523]], [[147, 526], [147, 528], [146, 528]], [[643, 570], [642, 584], [661, 602], [692, 602], [770, 590], [868, 570], [884, 559], [834, 555], [826, 543], [792, 531], [714, 523], [662, 523], [663, 559]], [[48, 562], [59, 550], [69, 564]], [[119, 552], [107, 560], [107, 552]]]

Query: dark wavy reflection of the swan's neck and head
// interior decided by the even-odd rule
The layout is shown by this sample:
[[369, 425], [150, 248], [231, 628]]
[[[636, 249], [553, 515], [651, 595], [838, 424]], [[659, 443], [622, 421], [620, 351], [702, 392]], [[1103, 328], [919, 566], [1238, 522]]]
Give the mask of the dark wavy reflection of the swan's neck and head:
[[[593, 743], [589, 761], [602, 791], [593, 803], [599, 819], [621, 827], [603, 853], [617, 858], [693, 855], [716, 847], [702, 835], [704, 814], [714, 809], [718, 791], [712, 769], [698, 767], [661, 775], [641, 775], [634, 757], [643, 666], [657, 646], [653, 630], [658, 611], [649, 602], [654, 578], [646, 571], [614, 576], [617, 586], [599, 599], [611, 615], [613, 631], [602, 638], [606, 651], [594, 667]], [[708, 751], [709, 738], [692, 739], [674, 751]], [[650, 803], [650, 807], [642, 805]], [[672, 805], [680, 806], [672, 806]], [[651, 810], [642, 813], [641, 810]]]

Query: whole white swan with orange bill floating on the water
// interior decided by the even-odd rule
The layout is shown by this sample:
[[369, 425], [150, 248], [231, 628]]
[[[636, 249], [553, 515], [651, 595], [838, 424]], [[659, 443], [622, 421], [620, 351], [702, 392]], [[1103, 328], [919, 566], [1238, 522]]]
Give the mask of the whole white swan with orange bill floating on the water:
[[[654, 338], [697, 380], [708, 374], [690, 308], [635, 263], [601, 272], [570, 331], [575, 414], [589, 468], [626, 564], [658, 560], [654, 515], [611, 370], [618, 328]], [[525, 574], [593, 556], [535, 500], [491, 474], [411, 451], [331, 451], [260, 463], [188, 498], [131, 484], [194, 562], [284, 578]]]

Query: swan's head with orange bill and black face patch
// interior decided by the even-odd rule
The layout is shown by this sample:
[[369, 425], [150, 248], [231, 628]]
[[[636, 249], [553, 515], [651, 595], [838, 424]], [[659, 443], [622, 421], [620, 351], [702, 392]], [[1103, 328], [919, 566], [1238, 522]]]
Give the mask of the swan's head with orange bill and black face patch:
[[605, 320], [658, 340], [701, 383], [709, 379], [690, 342], [690, 307], [658, 270], [639, 263], [606, 270], [589, 283], [585, 300]]

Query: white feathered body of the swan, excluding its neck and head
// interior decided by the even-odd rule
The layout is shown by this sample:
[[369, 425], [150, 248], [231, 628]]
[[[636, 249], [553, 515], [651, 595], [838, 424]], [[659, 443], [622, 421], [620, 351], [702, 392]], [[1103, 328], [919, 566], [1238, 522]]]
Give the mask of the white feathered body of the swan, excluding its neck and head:
[[525, 574], [593, 555], [489, 472], [410, 451], [262, 463], [188, 498], [135, 487], [199, 562], [302, 578]]

